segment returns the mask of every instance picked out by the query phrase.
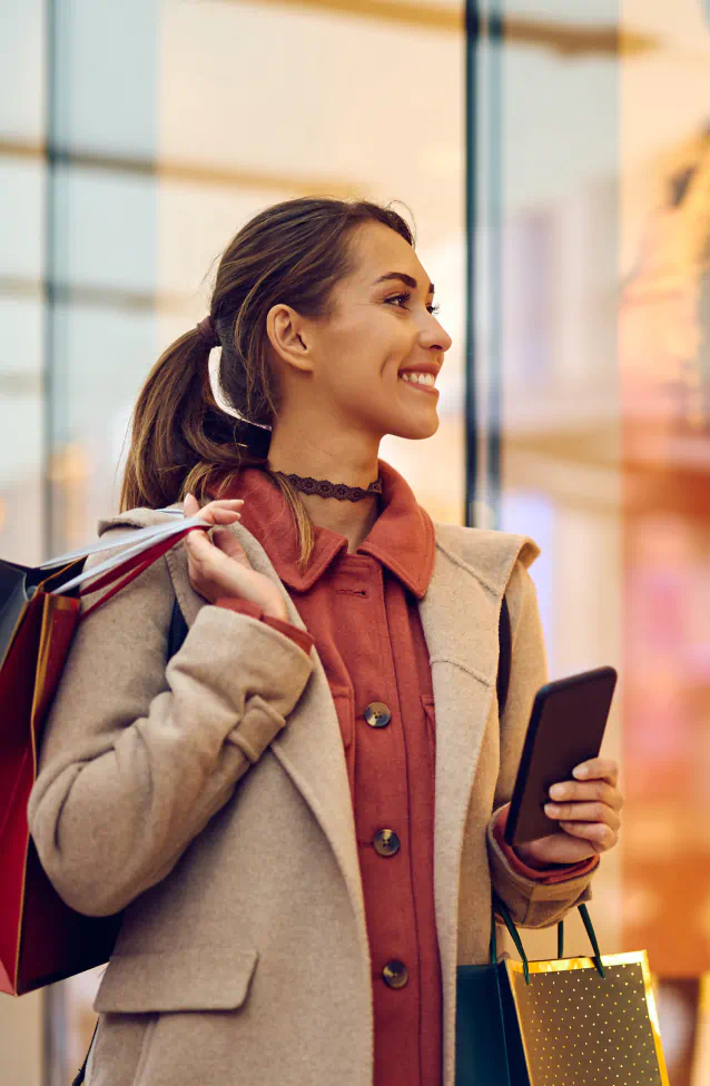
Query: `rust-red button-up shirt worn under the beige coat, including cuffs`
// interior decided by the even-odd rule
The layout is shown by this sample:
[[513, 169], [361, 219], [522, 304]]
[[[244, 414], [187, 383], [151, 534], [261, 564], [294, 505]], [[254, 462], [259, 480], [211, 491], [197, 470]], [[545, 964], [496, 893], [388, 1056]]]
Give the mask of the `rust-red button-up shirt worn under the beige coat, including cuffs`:
[[[315, 643], [337, 710], [353, 797], [372, 955], [374, 1086], [441, 1086], [436, 728], [417, 608], [434, 566], [434, 525], [405, 480], [383, 461], [379, 470], [381, 513], [367, 539], [348, 554], [345, 536], [316, 527], [302, 575], [296, 530], [280, 491], [264, 472], [245, 468], [220, 496], [245, 498], [241, 523], [264, 546], [308, 632], [265, 618], [243, 600], [219, 604], [263, 619], [306, 652]], [[506, 855], [521, 873], [544, 881], [588, 866], [532, 871], [507, 848]], [[404, 983], [395, 987], [393, 980]]]

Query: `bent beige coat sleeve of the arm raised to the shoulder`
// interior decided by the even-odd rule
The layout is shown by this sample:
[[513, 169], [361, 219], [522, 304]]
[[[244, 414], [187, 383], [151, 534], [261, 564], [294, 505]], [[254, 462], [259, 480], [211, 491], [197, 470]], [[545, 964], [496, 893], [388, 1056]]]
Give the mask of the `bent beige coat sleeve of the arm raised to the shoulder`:
[[166, 669], [174, 599], [160, 559], [79, 623], [42, 737], [30, 831], [59, 895], [90, 916], [169, 873], [313, 670], [286, 634], [209, 604]]

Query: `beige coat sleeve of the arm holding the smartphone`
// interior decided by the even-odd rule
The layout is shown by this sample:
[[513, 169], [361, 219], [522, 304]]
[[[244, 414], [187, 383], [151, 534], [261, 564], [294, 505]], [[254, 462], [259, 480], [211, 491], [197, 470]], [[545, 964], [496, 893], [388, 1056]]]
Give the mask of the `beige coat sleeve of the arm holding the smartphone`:
[[590, 900], [593, 871], [588, 870], [579, 877], [553, 883], [527, 878], [511, 863], [494, 833], [495, 822], [513, 794], [535, 693], [548, 681], [538, 594], [530, 573], [520, 560], [513, 569], [506, 599], [511, 614], [511, 674], [501, 719], [501, 766], [494, 812], [487, 828], [489, 862], [493, 889], [505, 901], [515, 922], [521, 927], [544, 928], [556, 924], [582, 901]]

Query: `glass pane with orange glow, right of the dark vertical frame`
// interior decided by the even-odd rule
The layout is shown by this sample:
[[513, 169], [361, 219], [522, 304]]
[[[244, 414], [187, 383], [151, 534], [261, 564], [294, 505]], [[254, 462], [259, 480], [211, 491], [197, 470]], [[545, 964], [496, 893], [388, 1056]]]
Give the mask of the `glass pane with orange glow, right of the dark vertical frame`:
[[[671, 1080], [694, 1086], [710, 968], [710, 6], [479, 8], [469, 496], [477, 523], [543, 546], [531, 573], [553, 677], [620, 671], [605, 751], [624, 831], [592, 914], [604, 949], [648, 948]], [[549, 936], [529, 950], [546, 956]]]

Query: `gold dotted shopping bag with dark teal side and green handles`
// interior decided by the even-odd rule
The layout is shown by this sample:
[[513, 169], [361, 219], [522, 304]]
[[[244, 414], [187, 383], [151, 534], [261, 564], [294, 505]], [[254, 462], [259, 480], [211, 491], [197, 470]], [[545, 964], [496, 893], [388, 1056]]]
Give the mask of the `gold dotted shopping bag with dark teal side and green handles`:
[[593, 957], [527, 961], [504, 902], [521, 961], [458, 966], [456, 1086], [668, 1086], [645, 950], [602, 956], [589, 912], [580, 914]]

